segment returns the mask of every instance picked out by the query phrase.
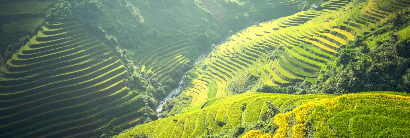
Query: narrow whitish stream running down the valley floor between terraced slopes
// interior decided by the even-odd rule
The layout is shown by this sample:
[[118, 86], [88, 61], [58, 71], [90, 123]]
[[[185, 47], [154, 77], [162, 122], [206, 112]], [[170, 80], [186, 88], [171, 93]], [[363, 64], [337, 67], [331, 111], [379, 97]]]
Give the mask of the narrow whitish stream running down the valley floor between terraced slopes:
[[[200, 55], [200, 56], [198, 57], [198, 59], [195, 60], [194, 65], [195, 65], [196, 63], [198, 63], [198, 62], [201, 62], [201, 61], [202, 61], [201, 59], [204, 59], [206, 56], [207, 56], [206, 53], [203, 53], [202, 55]], [[178, 84], [178, 87], [176, 87], [175, 89], [173, 89], [173, 90], [171, 91], [171, 93], [169, 93], [168, 96], [166, 96], [163, 100], [161, 100], [161, 101], [158, 103], [158, 107], [157, 107], [157, 110], [156, 110], [158, 115], [163, 112], [162, 109], [164, 109], [164, 104], [166, 104], [166, 102], [168, 102], [170, 99], [175, 98], [175, 96], [177, 96], [177, 94], [181, 92], [182, 88], [185, 86], [184, 79], [187, 77], [187, 73], [188, 73], [188, 72], [189, 72], [189, 71], [185, 72], [185, 73], [182, 75], [182, 78], [181, 78], [181, 80], [180, 80], [180, 82], [179, 82], [179, 84]]]

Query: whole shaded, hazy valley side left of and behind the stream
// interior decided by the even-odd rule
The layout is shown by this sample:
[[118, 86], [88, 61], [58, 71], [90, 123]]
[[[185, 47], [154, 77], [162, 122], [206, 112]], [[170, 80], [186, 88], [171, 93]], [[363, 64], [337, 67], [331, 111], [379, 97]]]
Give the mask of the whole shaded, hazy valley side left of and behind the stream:
[[[301, 6], [266, 2], [0, 2], [7, 19], [0, 31], [7, 40], [0, 49], [7, 55], [0, 55], [0, 137], [110, 137], [155, 120], [152, 109], [186, 63], [230, 30]], [[270, 14], [274, 4], [289, 12]]]

